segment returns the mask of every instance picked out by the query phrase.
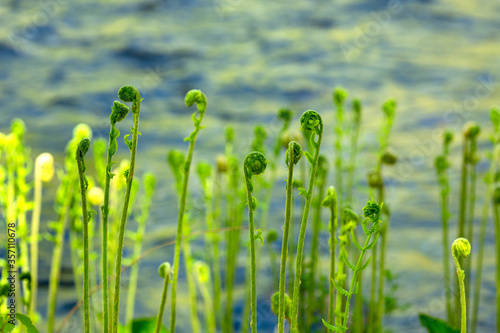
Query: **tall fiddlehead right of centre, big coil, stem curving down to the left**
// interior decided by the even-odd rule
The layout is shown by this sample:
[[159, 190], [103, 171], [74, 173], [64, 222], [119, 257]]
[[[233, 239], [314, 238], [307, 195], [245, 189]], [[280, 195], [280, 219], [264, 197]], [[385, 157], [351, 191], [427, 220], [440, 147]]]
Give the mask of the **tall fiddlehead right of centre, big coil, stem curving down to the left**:
[[[300, 118], [301, 127], [306, 130], [313, 131], [311, 135], [311, 145], [314, 147], [314, 157], [310, 153], [305, 152], [309, 163], [311, 163], [311, 176], [309, 178], [308, 190], [299, 189], [299, 192], [306, 197], [306, 204], [304, 206], [304, 213], [302, 215], [302, 222], [300, 225], [299, 241], [297, 244], [297, 259], [295, 262], [295, 279], [293, 285], [293, 302], [291, 309], [291, 322], [292, 322], [292, 332], [298, 332], [298, 310], [299, 310], [299, 290], [300, 290], [300, 280], [302, 276], [302, 266], [303, 266], [303, 255], [304, 255], [304, 241], [306, 237], [307, 220], [309, 218], [309, 210], [311, 208], [311, 202], [313, 197], [314, 183], [316, 181], [316, 170], [318, 169], [319, 151], [321, 147], [321, 140], [323, 138], [323, 121], [320, 115], [313, 110], [308, 110], [304, 112]], [[314, 138], [317, 137], [317, 141]]]

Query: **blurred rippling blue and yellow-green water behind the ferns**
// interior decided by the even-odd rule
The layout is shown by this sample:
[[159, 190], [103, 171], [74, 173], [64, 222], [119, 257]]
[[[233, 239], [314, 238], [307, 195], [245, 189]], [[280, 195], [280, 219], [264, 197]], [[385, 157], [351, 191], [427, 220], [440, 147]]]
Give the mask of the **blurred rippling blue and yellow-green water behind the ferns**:
[[[323, 115], [328, 131], [323, 152], [333, 162], [331, 93], [335, 86], [348, 89], [349, 99], [359, 98], [364, 106], [359, 208], [368, 199], [363, 185], [375, 159], [380, 106], [393, 97], [398, 108], [391, 141], [399, 162], [386, 173], [387, 203], [393, 213], [388, 258], [399, 286], [394, 295], [407, 306], [388, 316], [386, 326], [399, 333], [424, 332], [418, 312], [444, 317], [433, 160], [441, 150], [444, 129], [458, 133], [467, 120], [475, 120], [483, 125], [479, 168], [484, 171], [488, 165], [488, 111], [500, 103], [499, 14], [500, 2], [495, 0], [3, 0], [0, 131], [8, 132], [11, 120], [22, 118], [31, 156], [48, 151], [62, 165], [73, 127], [85, 122], [94, 138], [107, 138], [107, 117], [117, 90], [123, 84], [135, 85], [144, 97], [138, 174], [151, 171], [158, 178], [148, 249], [172, 238], [175, 231], [173, 176], [165, 156], [169, 149], [187, 149], [183, 138], [192, 129], [192, 110], [184, 105], [188, 90], [202, 89], [209, 100], [195, 162], [213, 161], [223, 152], [228, 124], [236, 129], [241, 155], [256, 124], [266, 126], [271, 144], [278, 131], [275, 114], [283, 106], [296, 110], [295, 128], [306, 109]], [[130, 122], [121, 125], [123, 133]], [[125, 158], [124, 145], [120, 149], [119, 157]], [[452, 230], [459, 151], [460, 139], [453, 147], [451, 169]], [[284, 166], [281, 171], [284, 175]], [[196, 200], [199, 184], [192, 179]], [[42, 221], [51, 219], [50, 193], [56, 186], [53, 182], [46, 187]], [[283, 181], [275, 192], [270, 227], [280, 230]], [[495, 321], [491, 223], [489, 228], [479, 332], [491, 332]], [[327, 236], [322, 240], [326, 251]], [[203, 250], [196, 244], [195, 255]], [[43, 307], [51, 245], [43, 241], [41, 247]], [[241, 253], [239, 281], [245, 276], [246, 252]], [[273, 288], [263, 253], [259, 307], [265, 312]], [[167, 247], [141, 261], [137, 316], [156, 313], [162, 284], [156, 269], [172, 257], [173, 248]], [[77, 301], [69, 258], [63, 266], [60, 316]], [[326, 274], [327, 267], [320, 269]], [[186, 295], [186, 286], [180, 288]], [[241, 297], [236, 305], [237, 321]], [[179, 332], [190, 331], [186, 309], [179, 313], [179, 323], [186, 323]], [[259, 331], [272, 332], [275, 320], [272, 314], [263, 315]]]

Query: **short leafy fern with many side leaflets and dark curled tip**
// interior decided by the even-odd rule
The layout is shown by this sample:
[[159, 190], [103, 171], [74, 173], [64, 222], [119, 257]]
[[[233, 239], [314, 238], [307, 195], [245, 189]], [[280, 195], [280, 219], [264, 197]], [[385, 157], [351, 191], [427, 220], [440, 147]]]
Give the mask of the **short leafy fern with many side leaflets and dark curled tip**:
[[[345, 302], [345, 310], [342, 314], [342, 320], [340, 320], [340, 324], [337, 326], [331, 325], [323, 320], [323, 324], [326, 328], [333, 330], [335, 332], [346, 332], [348, 330], [347, 320], [349, 319], [349, 306], [351, 302], [351, 297], [354, 294], [357, 294], [359, 290], [359, 282], [356, 282], [356, 276], [359, 272], [363, 271], [368, 267], [370, 262], [370, 258], [363, 264], [363, 256], [366, 251], [370, 250], [375, 246], [378, 240], [379, 227], [380, 227], [380, 215], [382, 212], [383, 204], [378, 205], [375, 201], [368, 201], [366, 205], [363, 207], [363, 215], [365, 220], [362, 223], [363, 231], [366, 235], [366, 240], [363, 246], [361, 246], [356, 237], [354, 235], [354, 230], [351, 230], [351, 239], [356, 248], [361, 252], [356, 265], [352, 264], [346, 255], [341, 255], [342, 261], [353, 271], [351, 284], [349, 286], [349, 290], [342, 288], [342, 286], [336, 282], [334, 279], [331, 280], [332, 284], [337, 289], [337, 293], [340, 293], [346, 297]], [[374, 239], [372, 240], [372, 237]]]

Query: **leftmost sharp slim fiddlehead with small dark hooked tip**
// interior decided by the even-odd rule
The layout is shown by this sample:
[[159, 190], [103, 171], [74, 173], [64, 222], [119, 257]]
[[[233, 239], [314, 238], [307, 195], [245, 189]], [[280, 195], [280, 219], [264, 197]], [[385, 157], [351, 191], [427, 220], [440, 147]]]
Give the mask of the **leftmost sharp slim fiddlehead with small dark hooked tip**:
[[90, 332], [90, 302], [89, 302], [89, 213], [87, 211], [87, 178], [85, 177], [84, 157], [90, 147], [89, 139], [83, 139], [76, 150], [76, 162], [80, 177], [80, 191], [82, 195], [82, 233], [83, 233], [83, 312], [85, 333]]

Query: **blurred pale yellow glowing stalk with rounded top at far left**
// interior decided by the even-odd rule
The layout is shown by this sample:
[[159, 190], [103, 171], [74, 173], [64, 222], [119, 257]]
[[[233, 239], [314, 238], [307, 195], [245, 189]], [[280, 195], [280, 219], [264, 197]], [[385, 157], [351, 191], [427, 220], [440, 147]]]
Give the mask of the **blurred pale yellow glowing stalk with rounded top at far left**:
[[54, 175], [54, 158], [49, 153], [40, 154], [35, 161], [35, 195], [33, 214], [31, 219], [31, 301], [29, 316], [36, 313], [38, 294], [38, 237], [40, 228], [40, 214], [42, 211], [42, 183], [48, 182]]

